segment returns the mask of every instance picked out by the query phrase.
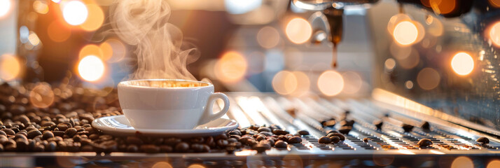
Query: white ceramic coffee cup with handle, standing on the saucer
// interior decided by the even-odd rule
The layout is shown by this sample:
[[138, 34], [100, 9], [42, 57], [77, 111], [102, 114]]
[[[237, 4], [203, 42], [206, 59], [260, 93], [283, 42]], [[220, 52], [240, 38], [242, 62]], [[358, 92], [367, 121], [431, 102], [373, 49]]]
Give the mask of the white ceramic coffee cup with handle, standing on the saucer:
[[[194, 80], [127, 80], [118, 83], [118, 99], [136, 129], [193, 129], [221, 118], [229, 109], [228, 96], [214, 93], [211, 83]], [[216, 99], [222, 99], [224, 107], [214, 113]]]

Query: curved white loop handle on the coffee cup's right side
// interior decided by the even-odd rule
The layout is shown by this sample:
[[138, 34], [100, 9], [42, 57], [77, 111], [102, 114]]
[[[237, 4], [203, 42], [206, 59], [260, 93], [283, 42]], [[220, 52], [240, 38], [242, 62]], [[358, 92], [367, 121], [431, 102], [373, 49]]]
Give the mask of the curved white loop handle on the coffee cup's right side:
[[[222, 101], [224, 102], [224, 108], [221, 111], [214, 113], [212, 109], [214, 109], [214, 102], [217, 99], [222, 99]], [[228, 113], [228, 110], [229, 110], [228, 96], [226, 96], [221, 92], [216, 92], [214, 94], [211, 94], [207, 101], [207, 108], [205, 109], [202, 118], [200, 118], [200, 121], [198, 121], [198, 125], [203, 125], [217, 118], [221, 118], [222, 116], [224, 116], [225, 113]]]

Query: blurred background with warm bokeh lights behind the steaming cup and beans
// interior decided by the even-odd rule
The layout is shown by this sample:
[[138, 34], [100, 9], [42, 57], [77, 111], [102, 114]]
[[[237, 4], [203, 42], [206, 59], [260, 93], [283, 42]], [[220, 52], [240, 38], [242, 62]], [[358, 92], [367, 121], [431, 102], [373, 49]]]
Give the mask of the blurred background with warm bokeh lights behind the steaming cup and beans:
[[[188, 69], [216, 91], [373, 97], [500, 129], [499, 0], [368, 2], [169, 5], [170, 22], [201, 54]], [[135, 55], [106, 34], [112, 4], [0, 0], [0, 80], [115, 87], [134, 71]], [[340, 22], [325, 17], [325, 5], [341, 10]]]

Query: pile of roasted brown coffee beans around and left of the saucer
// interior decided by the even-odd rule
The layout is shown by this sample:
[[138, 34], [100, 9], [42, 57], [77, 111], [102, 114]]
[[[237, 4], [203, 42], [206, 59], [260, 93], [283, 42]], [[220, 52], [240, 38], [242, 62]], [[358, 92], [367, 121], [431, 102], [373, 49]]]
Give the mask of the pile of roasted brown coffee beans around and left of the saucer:
[[[39, 85], [45, 87], [40, 90]], [[37, 90], [38, 88], [38, 90]], [[92, 90], [47, 83], [0, 85], [0, 152], [206, 153], [300, 144], [277, 125], [231, 130], [215, 137], [113, 137], [92, 127], [95, 118], [121, 115], [116, 89]]]

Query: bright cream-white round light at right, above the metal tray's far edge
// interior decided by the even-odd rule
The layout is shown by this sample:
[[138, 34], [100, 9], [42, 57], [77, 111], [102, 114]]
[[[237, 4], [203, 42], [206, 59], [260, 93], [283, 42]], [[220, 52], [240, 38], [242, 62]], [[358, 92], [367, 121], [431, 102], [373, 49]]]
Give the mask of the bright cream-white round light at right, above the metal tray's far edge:
[[452, 69], [461, 76], [468, 75], [474, 69], [474, 59], [466, 52], [458, 52], [453, 56]]

